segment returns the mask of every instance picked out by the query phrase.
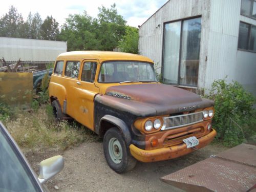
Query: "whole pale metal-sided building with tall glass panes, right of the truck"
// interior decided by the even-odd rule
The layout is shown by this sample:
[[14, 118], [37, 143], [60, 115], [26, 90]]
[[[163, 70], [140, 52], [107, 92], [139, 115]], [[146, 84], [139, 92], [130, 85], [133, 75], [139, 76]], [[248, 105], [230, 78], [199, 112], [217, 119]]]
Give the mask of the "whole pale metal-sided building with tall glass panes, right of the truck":
[[253, 0], [169, 0], [140, 26], [139, 53], [164, 83], [207, 90], [227, 76], [256, 95], [254, 12]]

